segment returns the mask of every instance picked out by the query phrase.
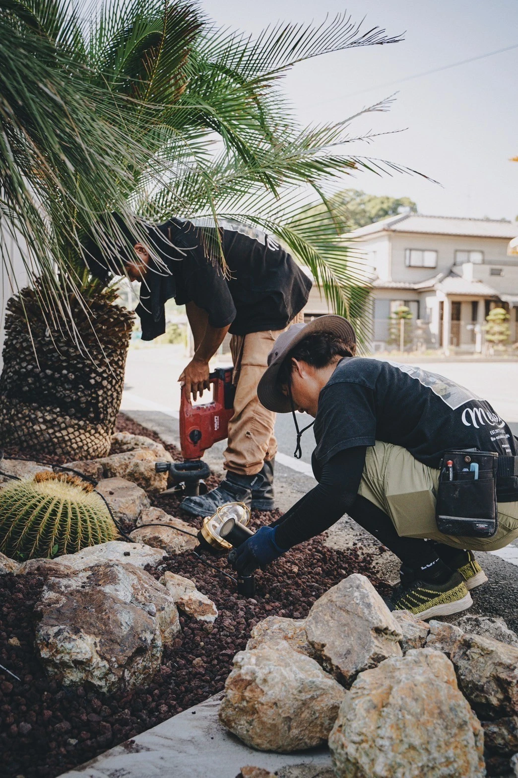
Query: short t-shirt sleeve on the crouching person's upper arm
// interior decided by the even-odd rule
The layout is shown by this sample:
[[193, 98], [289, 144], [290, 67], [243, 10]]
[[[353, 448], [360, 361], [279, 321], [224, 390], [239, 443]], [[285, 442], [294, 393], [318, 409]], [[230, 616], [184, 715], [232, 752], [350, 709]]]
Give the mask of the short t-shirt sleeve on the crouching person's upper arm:
[[317, 440], [315, 459], [321, 468], [346, 448], [374, 446], [374, 391], [353, 381], [327, 384], [318, 398], [314, 431]]

